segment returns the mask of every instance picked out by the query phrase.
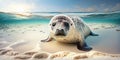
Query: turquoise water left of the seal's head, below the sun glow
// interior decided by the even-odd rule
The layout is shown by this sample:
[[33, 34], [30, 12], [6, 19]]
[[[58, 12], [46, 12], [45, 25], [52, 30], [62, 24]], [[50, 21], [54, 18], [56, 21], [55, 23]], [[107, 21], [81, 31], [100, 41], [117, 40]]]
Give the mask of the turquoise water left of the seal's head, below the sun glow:
[[34, 23], [48, 23], [48, 18], [43, 18], [39, 16], [20, 16], [9, 14], [9, 13], [0, 13], [0, 24], [34, 24]]

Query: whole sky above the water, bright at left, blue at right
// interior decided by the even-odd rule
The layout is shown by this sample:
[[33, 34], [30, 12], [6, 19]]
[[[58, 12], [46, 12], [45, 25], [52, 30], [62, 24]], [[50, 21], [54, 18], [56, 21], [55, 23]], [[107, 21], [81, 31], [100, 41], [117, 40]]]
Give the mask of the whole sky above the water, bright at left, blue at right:
[[0, 11], [110, 12], [120, 11], [120, 0], [0, 0]]

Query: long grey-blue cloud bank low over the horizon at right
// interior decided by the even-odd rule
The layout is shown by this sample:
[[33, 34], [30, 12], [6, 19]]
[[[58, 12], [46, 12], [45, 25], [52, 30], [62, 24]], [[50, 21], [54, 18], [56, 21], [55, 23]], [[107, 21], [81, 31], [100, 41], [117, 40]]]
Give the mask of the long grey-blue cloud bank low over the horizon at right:
[[107, 5], [102, 3], [100, 5], [93, 5], [88, 7], [81, 7], [76, 5], [71, 8], [66, 8], [61, 10], [62, 12], [112, 12], [112, 11], [120, 11], [120, 3], [116, 3], [115, 5]]

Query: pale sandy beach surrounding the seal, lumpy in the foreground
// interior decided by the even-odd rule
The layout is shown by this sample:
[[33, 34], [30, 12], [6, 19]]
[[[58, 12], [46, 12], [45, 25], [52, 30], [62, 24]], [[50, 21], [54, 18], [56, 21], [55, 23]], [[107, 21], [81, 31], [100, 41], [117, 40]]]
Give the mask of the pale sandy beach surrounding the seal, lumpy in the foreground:
[[[120, 58], [120, 26], [111, 24], [89, 24], [90, 28], [99, 36], [89, 36], [86, 42], [93, 50], [80, 51], [75, 44], [64, 44], [57, 41], [40, 42], [49, 34], [47, 24], [16, 26], [6, 30], [0, 30], [0, 48], [10, 51], [3, 53], [0, 51], [2, 60], [35, 60], [35, 59], [54, 59], [54, 60], [118, 60]], [[19, 27], [19, 28], [18, 28]], [[17, 33], [16, 33], [17, 32]], [[7, 37], [7, 38], [5, 38]], [[36, 49], [36, 45], [40, 49]], [[26, 52], [34, 52], [28, 54]]]

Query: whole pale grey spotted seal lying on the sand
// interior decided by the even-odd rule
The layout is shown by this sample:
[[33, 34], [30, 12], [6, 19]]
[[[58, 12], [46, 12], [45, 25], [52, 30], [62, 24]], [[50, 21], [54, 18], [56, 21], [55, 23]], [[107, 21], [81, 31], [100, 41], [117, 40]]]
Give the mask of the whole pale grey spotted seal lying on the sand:
[[67, 15], [56, 15], [50, 21], [50, 35], [44, 41], [55, 39], [63, 43], [76, 43], [79, 50], [91, 50], [85, 43], [85, 38], [93, 34], [90, 28], [79, 17]]

